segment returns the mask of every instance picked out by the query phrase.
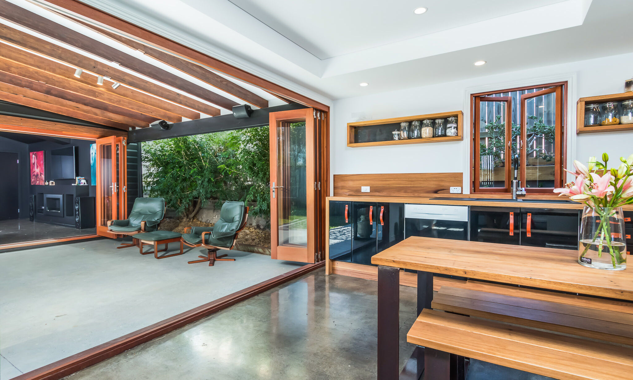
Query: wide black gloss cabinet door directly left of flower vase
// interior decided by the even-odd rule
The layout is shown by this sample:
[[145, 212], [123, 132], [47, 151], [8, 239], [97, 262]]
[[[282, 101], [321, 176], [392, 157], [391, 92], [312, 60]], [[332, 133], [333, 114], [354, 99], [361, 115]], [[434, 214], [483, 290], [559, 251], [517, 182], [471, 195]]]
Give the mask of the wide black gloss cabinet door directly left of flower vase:
[[579, 210], [521, 208], [521, 245], [578, 249]]

